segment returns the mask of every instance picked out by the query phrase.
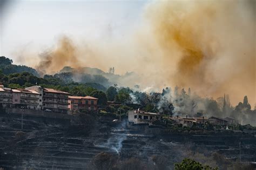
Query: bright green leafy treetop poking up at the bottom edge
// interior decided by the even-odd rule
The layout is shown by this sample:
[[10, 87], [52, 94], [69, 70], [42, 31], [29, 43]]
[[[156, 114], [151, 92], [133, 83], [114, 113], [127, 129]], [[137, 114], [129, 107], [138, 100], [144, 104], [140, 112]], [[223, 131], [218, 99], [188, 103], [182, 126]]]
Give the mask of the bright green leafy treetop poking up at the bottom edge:
[[217, 170], [218, 168], [212, 168], [208, 165], [202, 165], [193, 159], [185, 158], [180, 163], [175, 163], [174, 168], [176, 170]]

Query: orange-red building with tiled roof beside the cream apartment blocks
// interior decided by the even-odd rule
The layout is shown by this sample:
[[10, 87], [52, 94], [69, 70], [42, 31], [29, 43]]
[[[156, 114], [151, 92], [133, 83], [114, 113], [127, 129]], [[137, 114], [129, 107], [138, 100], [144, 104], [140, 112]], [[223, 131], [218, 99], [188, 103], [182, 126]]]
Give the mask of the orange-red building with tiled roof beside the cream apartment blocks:
[[77, 111], [96, 111], [98, 110], [98, 98], [91, 96], [69, 96], [69, 110]]

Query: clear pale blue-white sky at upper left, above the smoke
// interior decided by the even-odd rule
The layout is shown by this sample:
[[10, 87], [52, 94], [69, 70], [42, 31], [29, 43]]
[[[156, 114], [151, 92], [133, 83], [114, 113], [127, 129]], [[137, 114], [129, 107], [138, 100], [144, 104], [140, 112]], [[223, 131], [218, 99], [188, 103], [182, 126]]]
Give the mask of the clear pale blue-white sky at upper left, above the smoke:
[[122, 37], [136, 29], [147, 1], [2, 1], [0, 54], [41, 52], [67, 35], [72, 39]]

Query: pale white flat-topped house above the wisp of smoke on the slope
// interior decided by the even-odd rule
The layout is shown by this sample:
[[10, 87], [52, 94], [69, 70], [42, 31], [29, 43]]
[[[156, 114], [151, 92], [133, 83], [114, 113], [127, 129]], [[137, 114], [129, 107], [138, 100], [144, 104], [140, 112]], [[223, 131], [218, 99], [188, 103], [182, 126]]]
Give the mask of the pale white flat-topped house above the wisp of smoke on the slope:
[[149, 124], [152, 125], [154, 121], [158, 120], [159, 113], [151, 113], [145, 111], [129, 111], [128, 121], [133, 124]]

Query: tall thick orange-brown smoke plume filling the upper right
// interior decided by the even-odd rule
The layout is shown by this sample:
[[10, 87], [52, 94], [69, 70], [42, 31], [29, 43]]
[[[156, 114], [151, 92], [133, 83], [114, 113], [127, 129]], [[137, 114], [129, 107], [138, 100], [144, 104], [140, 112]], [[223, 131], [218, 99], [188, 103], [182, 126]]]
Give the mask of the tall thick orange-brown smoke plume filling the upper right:
[[149, 5], [169, 83], [199, 94], [255, 101], [255, 1], [165, 1]]

